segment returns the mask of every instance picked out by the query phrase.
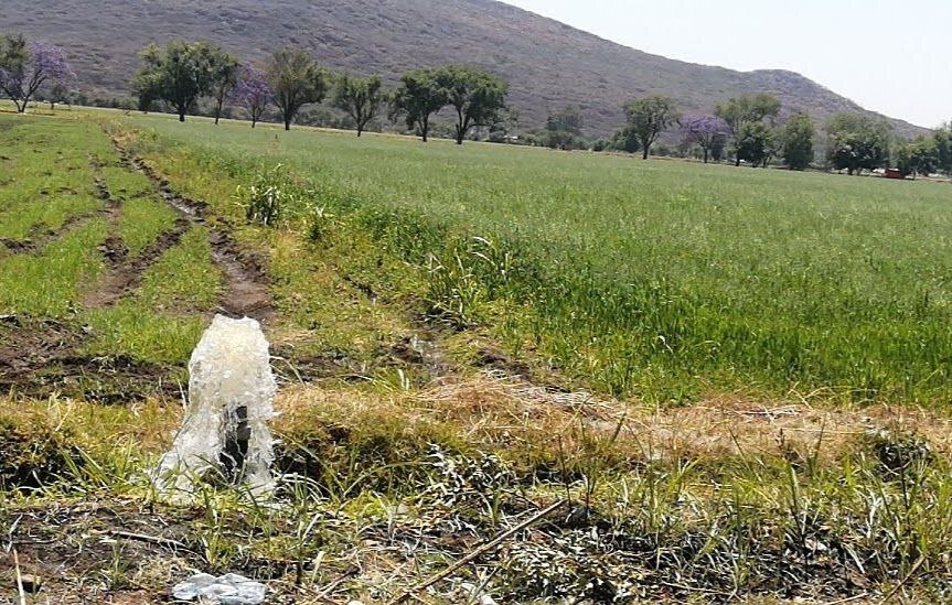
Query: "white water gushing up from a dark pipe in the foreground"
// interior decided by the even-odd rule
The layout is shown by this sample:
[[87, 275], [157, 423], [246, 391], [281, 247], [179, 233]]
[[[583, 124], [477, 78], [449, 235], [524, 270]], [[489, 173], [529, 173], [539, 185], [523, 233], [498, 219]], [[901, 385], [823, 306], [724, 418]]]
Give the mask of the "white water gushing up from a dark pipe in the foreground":
[[218, 471], [256, 491], [272, 487], [277, 391], [268, 341], [255, 320], [216, 315], [189, 361], [189, 404], [172, 449], [156, 469], [165, 495], [188, 496], [193, 480]]

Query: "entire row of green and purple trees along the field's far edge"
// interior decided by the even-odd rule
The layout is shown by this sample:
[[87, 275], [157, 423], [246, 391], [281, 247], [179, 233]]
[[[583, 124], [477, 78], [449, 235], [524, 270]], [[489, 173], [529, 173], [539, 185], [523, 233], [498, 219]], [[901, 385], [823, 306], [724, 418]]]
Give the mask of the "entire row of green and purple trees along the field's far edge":
[[[184, 121], [200, 100], [211, 102], [215, 123], [227, 107], [242, 108], [254, 128], [274, 108], [285, 129], [301, 109], [325, 104], [346, 115], [360, 137], [377, 118], [386, 116], [429, 140], [432, 118], [451, 116], [452, 136], [460, 144], [477, 128], [490, 140], [547, 145], [555, 149], [640, 152], [648, 159], [659, 141], [677, 141], [664, 154], [696, 154], [705, 163], [730, 158], [735, 165], [768, 166], [780, 160], [804, 170], [817, 160], [817, 128], [805, 112], [781, 120], [782, 105], [768, 94], [747, 95], [718, 104], [712, 115], [683, 115], [674, 99], [648, 96], [625, 104], [624, 127], [609, 139], [582, 136], [584, 116], [567, 107], [554, 112], [542, 131], [506, 137], [518, 114], [506, 104], [509, 84], [484, 69], [443, 65], [404, 73], [397, 86], [386, 88], [381, 75], [360, 76], [320, 66], [309, 52], [282, 48], [259, 68], [207, 42], [171, 41], [148, 45], [131, 91], [138, 109], [163, 106]], [[22, 35], [0, 35], [0, 91], [18, 111], [42, 95], [51, 104], [65, 100], [75, 79], [65, 52]], [[825, 166], [859, 174], [884, 166], [903, 176], [952, 173], [952, 127], [929, 136], [900, 141], [884, 119], [843, 112], [823, 125]]]

